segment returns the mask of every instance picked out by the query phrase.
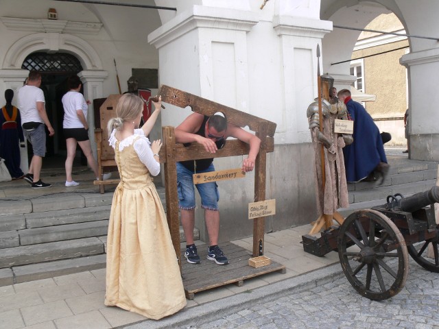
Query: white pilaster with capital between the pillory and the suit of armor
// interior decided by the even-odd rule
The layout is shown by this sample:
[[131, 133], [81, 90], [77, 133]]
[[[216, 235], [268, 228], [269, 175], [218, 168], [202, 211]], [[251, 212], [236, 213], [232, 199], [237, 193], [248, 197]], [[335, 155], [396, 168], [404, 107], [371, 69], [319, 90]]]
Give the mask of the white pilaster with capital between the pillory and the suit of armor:
[[[292, 143], [311, 141], [306, 110], [318, 96], [317, 45], [320, 45], [320, 74], [322, 68], [322, 38], [332, 30], [332, 23], [318, 19], [276, 16], [273, 27], [281, 38], [283, 67], [284, 113], [276, 135]], [[313, 72], [313, 75], [309, 73]]]

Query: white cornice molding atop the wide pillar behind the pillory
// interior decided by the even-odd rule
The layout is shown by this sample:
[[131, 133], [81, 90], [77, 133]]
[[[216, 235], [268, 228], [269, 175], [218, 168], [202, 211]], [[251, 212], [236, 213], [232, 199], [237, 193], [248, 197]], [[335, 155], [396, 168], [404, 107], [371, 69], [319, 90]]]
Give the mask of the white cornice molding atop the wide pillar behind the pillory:
[[257, 23], [257, 15], [252, 12], [194, 5], [191, 10], [179, 14], [150, 33], [148, 42], [158, 49], [196, 28], [249, 32]]

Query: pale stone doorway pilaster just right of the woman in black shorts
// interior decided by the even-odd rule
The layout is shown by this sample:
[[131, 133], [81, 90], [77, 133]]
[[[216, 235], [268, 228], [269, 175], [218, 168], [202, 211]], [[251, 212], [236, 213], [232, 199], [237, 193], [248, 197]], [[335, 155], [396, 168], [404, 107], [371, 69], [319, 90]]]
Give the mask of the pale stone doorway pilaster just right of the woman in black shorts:
[[93, 109], [93, 99], [105, 97], [102, 92], [102, 84], [106, 77], [108, 77], [108, 72], [100, 70], [84, 70], [78, 73], [78, 77], [80, 77], [82, 84], [84, 85], [84, 98], [91, 101], [91, 104], [88, 106], [86, 119], [88, 123], [88, 138], [90, 138], [93, 156], [95, 159], [97, 159], [97, 147], [95, 141], [95, 111]]

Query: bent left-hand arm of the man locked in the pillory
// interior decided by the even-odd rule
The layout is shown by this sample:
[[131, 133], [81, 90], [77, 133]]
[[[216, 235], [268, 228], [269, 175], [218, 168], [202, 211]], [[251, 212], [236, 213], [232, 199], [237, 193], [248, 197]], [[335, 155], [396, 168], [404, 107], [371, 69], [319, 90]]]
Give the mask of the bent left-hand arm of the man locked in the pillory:
[[193, 112], [185, 119], [178, 127], [176, 127], [176, 142], [177, 143], [199, 143], [204, 146], [204, 149], [209, 153], [217, 151], [217, 145], [209, 138], [195, 134], [200, 129], [204, 120], [204, 115]]

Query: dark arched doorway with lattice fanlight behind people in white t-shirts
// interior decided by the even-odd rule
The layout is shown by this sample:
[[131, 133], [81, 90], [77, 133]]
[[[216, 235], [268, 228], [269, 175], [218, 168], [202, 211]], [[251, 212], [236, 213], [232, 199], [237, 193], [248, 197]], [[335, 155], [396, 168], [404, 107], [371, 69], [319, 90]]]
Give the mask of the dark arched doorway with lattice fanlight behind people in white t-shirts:
[[82, 71], [81, 62], [71, 53], [37, 51], [25, 58], [21, 69], [41, 73], [40, 88], [45, 94], [47, 117], [55, 130], [53, 138], [46, 138], [46, 157], [49, 159], [49, 165], [59, 166], [59, 162], [62, 162], [66, 155], [66, 143], [62, 134], [64, 110], [61, 99], [68, 91], [67, 78]]

